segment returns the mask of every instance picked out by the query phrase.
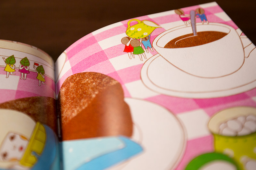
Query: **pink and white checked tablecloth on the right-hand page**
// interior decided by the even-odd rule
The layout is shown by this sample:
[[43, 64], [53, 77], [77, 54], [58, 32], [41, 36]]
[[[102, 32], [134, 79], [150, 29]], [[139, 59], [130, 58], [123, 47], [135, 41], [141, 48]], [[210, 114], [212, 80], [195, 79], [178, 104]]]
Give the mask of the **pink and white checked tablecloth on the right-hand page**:
[[[182, 10], [185, 11], [185, 14], [188, 14], [190, 10], [199, 7], [204, 8], [209, 22], [223, 23], [235, 29], [238, 28], [216, 3], [196, 5], [182, 8]], [[174, 11], [142, 16], [136, 19], [150, 20], [163, 27], [153, 31], [150, 37], [151, 42], [159, 33], [165, 31], [165, 28], [170, 28], [178, 22], [178, 25], [183, 24]], [[123, 52], [124, 45], [121, 43], [121, 38], [126, 36], [127, 21], [129, 19], [90, 33], [65, 50], [67, 54], [66, 64], [69, 64], [70, 67], [68, 67], [68, 70], [62, 70], [65, 74], [56, 83], [57, 94], [62, 83], [69, 76], [80, 72], [94, 71], [106, 74], [119, 81], [123, 87], [125, 97], [152, 101], [167, 108], [185, 124], [185, 129], [187, 129], [186, 149], [176, 167], [176, 169], [184, 169], [191, 159], [205, 152], [214, 151], [213, 136], [207, 128], [207, 122], [211, 116], [229, 107], [256, 107], [256, 89], [213, 99], [179, 98], [150, 91], [140, 79], [140, 70], [146, 60], [140, 61], [138, 55], [135, 56], [135, 59], [130, 60], [127, 53]], [[196, 21], [201, 22], [199, 18]], [[149, 50], [149, 53], [145, 54], [147, 58], [150, 58], [157, 52]], [[186, 117], [190, 116], [195, 119], [187, 120]], [[197, 131], [189, 130], [193, 129], [192, 125], [199, 127]]]

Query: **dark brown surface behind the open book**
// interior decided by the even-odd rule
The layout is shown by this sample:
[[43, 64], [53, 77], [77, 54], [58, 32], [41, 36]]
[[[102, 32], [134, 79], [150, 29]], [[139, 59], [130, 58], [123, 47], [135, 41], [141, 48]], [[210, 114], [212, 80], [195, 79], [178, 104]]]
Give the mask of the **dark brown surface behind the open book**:
[[[36, 46], [56, 61], [72, 43], [101, 27], [129, 18], [208, 2], [212, 0], [1, 0], [0, 39]], [[256, 44], [256, 1], [216, 2]]]

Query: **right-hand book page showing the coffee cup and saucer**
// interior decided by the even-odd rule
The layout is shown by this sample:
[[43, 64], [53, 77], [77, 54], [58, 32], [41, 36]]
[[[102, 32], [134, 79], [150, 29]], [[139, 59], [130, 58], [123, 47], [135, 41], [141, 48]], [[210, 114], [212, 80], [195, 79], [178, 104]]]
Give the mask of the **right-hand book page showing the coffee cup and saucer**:
[[56, 62], [64, 169], [253, 169], [255, 63], [215, 2], [84, 36]]

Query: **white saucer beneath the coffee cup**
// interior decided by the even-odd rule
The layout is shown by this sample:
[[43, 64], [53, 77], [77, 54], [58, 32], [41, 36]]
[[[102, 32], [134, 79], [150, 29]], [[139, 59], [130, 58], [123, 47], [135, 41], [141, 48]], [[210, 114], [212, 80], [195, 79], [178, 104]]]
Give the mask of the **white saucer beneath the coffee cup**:
[[141, 80], [155, 92], [184, 98], [215, 98], [246, 92], [256, 87], [256, 49], [239, 70], [220, 78], [193, 76], [156, 54], [144, 63]]

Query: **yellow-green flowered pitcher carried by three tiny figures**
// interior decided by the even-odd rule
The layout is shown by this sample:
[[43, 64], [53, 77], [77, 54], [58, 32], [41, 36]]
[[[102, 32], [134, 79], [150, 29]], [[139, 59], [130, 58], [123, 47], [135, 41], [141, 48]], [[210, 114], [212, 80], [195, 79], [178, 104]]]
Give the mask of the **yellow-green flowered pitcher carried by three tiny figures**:
[[[138, 23], [130, 26], [132, 21], [137, 21]], [[148, 20], [140, 21], [139, 19], [131, 19], [127, 22], [128, 28], [126, 30], [126, 34], [135, 39], [145, 38], [149, 34], [151, 34], [156, 28], [161, 26], [157, 25], [156, 23]]]

